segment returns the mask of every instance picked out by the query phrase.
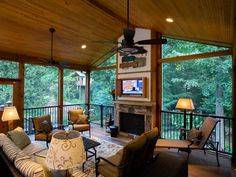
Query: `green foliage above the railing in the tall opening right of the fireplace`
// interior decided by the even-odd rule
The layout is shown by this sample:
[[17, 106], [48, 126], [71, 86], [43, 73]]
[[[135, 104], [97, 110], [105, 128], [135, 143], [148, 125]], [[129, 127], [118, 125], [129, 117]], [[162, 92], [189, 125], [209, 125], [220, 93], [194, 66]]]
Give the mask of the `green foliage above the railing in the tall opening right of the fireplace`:
[[[163, 58], [225, 49], [173, 39], [164, 46]], [[231, 56], [164, 63], [163, 109], [174, 110], [181, 97], [193, 99], [195, 112], [231, 116]]]

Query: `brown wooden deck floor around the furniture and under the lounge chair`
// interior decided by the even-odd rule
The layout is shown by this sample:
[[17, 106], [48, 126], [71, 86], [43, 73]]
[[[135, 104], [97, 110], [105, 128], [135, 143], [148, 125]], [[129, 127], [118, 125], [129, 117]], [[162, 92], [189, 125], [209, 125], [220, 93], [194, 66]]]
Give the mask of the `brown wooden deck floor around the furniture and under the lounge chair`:
[[[86, 134], [86, 132], [85, 132]], [[86, 134], [87, 135], [87, 134]], [[105, 132], [104, 128], [100, 128], [98, 125], [92, 125], [91, 135], [104, 139], [106, 141], [125, 145], [132, 140], [132, 136], [122, 136], [114, 138], [111, 137], [109, 133]], [[33, 139], [33, 136], [31, 138]], [[173, 155], [181, 155], [187, 157], [186, 152], [178, 152], [175, 149], [157, 149], [157, 151], [168, 151]], [[236, 164], [231, 163], [230, 157], [225, 155], [219, 155], [220, 167], [217, 166], [216, 157], [213, 152], [207, 152], [206, 154], [203, 151], [195, 150], [192, 151], [188, 161], [188, 173], [189, 177], [236, 177]]]

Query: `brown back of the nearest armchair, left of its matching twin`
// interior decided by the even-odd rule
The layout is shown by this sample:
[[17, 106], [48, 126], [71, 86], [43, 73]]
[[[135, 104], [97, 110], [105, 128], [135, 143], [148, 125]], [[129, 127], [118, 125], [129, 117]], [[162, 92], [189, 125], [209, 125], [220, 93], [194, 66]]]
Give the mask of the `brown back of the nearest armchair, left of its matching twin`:
[[120, 176], [137, 176], [145, 164], [146, 143], [147, 137], [140, 136], [124, 147], [121, 164], [128, 163], [128, 165], [121, 171]]

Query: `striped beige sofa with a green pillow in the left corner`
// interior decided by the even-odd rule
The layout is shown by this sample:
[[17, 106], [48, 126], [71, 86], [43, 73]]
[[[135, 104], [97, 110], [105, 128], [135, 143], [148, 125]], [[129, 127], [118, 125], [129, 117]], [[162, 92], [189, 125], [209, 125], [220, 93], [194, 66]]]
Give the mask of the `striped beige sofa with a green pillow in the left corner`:
[[[44, 151], [45, 146], [39, 142], [31, 142], [22, 128], [8, 132], [7, 135], [0, 133], [1, 159], [9, 167], [14, 177], [59, 177], [61, 171], [48, 169], [44, 158], [37, 156]], [[86, 177], [81, 170], [69, 171], [72, 177]]]

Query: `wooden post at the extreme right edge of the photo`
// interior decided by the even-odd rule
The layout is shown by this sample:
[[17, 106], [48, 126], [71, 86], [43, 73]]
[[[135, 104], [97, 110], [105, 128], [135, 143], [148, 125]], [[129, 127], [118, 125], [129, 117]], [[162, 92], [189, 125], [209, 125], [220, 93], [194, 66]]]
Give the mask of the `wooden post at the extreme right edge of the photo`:
[[232, 57], [232, 118], [232, 159], [236, 162], [236, 20], [234, 20]]

